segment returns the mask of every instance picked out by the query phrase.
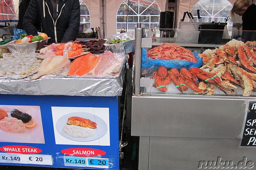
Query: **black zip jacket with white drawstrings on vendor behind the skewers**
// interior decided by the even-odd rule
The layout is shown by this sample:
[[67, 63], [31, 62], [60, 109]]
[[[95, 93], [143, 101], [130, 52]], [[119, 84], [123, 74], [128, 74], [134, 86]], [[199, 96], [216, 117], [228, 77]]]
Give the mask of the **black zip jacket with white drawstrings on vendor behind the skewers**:
[[42, 32], [51, 37], [48, 43], [76, 40], [80, 26], [79, 0], [61, 0], [56, 20], [53, 20], [52, 14], [52, 4], [49, 0], [31, 0], [23, 18], [23, 27], [27, 34], [38, 35], [34, 24], [39, 18]]

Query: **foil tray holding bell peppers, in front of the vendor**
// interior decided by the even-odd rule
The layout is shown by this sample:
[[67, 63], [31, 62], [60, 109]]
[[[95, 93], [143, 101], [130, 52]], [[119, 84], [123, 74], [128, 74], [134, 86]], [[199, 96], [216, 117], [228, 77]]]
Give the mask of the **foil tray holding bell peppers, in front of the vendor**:
[[[50, 37], [48, 39], [50, 39]], [[45, 39], [39, 42], [18, 43], [18, 44], [15, 44], [15, 41], [17, 40], [14, 40], [2, 46], [7, 47], [11, 53], [35, 53], [36, 50], [40, 50], [41, 48], [44, 48], [45, 45], [47, 45], [48, 39]]]

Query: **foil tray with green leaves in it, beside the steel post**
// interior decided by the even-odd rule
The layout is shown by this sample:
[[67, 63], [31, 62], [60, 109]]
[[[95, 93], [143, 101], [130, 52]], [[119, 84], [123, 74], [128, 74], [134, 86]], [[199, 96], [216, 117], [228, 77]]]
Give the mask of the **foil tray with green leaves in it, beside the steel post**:
[[[109, 44], [109, 42], [111, 42], [113, 39], [124, 40], [126, 38], [130, 38], [131, 40], [124, 41], [118, 44]], [[127, 33], [112, 35], [108, 37], [108, 40], [104, 43], [104, 45], [108, 47], [108, 50], [111, 51], [112, 53], [126, 54], [135, 50], [134, 41], [135, 41], [135, 31], [132, 31]]]

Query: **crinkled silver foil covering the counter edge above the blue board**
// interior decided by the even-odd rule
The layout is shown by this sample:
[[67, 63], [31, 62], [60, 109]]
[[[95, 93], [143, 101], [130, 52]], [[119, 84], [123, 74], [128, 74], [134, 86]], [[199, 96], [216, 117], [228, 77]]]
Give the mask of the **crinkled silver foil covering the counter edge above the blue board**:
[[68, 77], [45, 75], [29, 78], [0, 78], [1, 94], [121, 96], [126, 64], [112, 77]]

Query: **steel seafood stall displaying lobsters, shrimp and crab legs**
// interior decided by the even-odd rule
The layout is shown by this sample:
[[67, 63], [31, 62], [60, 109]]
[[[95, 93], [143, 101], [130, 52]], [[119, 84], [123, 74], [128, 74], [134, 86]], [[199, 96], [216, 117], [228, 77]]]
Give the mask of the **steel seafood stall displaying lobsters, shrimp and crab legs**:
[[256, 74], [248, 62], [255, 42], [152, 43], [140, 29], [131, 131], [140, 137], [139, 169], [251, 169]]

